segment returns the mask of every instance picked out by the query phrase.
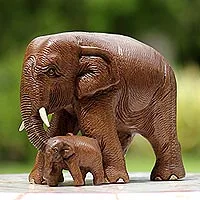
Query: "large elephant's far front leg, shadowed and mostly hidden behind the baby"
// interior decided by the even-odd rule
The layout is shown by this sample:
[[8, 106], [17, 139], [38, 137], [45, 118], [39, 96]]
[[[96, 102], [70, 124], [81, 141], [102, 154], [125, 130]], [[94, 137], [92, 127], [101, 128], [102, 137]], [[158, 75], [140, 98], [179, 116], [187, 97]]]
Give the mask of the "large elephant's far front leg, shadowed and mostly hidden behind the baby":
[[[48, 134], [51, 137], [57, 135], [66, 135], [66, 133], [77, 133], [77, 119], [69, 112], [65, 110], [61, 110], [54, 114], [51, 120], [51, 126], [47, 130]], [[45, 183], [43, 175], [44, 175], [44, 153], [39, 151], [37, 153], [35, 164], [33, 169], [29, 174], [29, 182], [36, 183], [36, 184], [43, 184]], [[61, 172], [59, 182], [63, 182], [63, 174]]]

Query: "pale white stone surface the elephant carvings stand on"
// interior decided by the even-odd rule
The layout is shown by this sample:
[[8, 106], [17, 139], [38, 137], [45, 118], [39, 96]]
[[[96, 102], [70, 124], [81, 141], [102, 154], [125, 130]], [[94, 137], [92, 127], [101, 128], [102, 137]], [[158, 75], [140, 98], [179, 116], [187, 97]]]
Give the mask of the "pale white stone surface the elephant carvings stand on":
[[179, 181], [149, 181], [149, 173], [131, 173], [128, 184], [92, 185], [92, 176], [87, 176], [86, 186], [74, 187], [71, 176], [65, 173], [65, 182], [58, 187], [29, 184], [28, 174], [0, 175], [0, 199], [8, 200], [171, 200], [199, 199], [200, 174], [188, 174]]

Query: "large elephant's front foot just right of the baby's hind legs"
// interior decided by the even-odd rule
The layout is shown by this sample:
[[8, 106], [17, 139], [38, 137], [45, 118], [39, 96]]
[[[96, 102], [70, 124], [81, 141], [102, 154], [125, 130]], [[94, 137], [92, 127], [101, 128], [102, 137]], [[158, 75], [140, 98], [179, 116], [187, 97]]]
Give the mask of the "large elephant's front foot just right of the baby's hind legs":
[[108, 182], [117, 183], [120, 179], [124, 181], [124, 183], [129, 182], [129, 176], [126, 170], [118, 170], [113, 166], [108, 166], [105, 169], [105, 174]]

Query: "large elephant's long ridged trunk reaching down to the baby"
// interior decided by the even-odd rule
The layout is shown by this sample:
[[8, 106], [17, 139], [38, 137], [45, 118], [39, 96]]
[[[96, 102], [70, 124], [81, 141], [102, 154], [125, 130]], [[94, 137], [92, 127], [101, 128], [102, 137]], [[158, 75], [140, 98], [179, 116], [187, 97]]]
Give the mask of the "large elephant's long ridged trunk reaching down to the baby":
[[[43, 128], [39, 109], [42, 104], [40, 85], [37, 85], [34, 71], [36, 67], [35, 57], [29, 57], [23, 66], [23, 74], [20, 86], [20, 106], [24, 128], [27, 131], [29, 141], [41, 151], [44, 151], [49, 136]], [[48, 125], [48, 124], [47, 124]]]

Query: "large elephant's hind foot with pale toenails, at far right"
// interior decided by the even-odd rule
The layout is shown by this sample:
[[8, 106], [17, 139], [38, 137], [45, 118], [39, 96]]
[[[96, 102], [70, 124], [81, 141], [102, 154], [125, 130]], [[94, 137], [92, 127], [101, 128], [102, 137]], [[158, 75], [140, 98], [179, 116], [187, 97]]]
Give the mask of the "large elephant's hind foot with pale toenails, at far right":
[[182, 165], [169, 165], [168, 163], [156, 163], [150, 179], [151, 181], [174, 181], [185, 177], [185, 170]]

